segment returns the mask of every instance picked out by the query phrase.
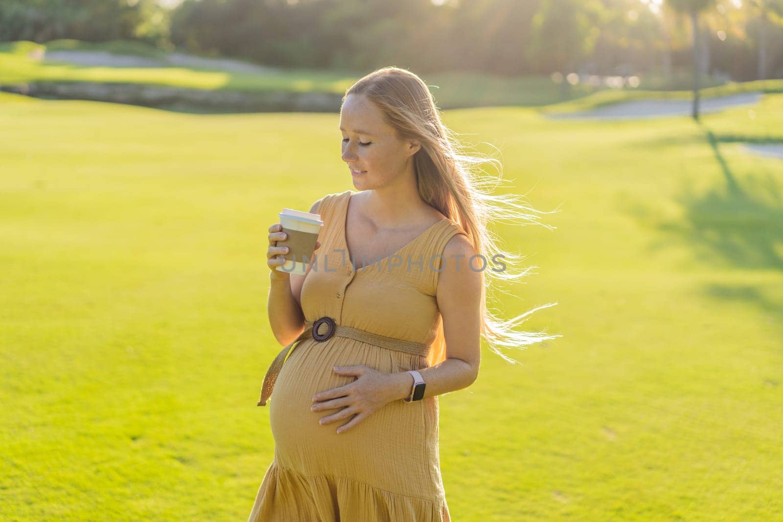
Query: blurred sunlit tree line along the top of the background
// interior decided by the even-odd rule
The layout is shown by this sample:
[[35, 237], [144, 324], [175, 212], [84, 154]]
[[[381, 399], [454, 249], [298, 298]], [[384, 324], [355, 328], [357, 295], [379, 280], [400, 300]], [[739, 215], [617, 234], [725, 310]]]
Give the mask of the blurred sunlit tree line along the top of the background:
[[667, 76], [696, 59], [734, 81], [783, 76], [783, 0], [0, 2], [0, 40], [56, 38], [279, 67]]

